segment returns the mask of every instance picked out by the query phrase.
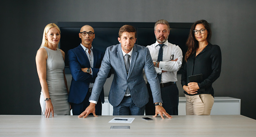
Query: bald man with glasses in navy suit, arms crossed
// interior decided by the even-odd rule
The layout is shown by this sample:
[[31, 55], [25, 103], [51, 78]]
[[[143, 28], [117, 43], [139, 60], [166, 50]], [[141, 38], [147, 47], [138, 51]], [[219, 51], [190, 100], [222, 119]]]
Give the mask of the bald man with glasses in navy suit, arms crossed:
[[[104, 53], [92, 46], [95, 33], [93, 27], [85, 25], [79, 32], [81, 44], [68, 51], [68, 62], [72, 81], [68, 102], [73, 115], [80, 115], [89, 106], [89, 97], [92, 93], [94, 81], [98, 75]], [[109, 73], [108, 77], [110, 77]], [[100, 93], [96, 108], [96, 114], [102, 115], [102, 103], [104, 103], [103, 88]]]

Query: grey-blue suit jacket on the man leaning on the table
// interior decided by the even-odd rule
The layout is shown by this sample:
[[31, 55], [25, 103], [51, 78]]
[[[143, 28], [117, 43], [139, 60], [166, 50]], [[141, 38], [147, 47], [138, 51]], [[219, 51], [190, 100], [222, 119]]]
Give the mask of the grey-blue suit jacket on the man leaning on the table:
[[92, 95], [89, 100], [98, 101], [102, 87], [106, 82], [110, 70], [114, 73], [108, 100], [112, 106], [118, 106], [122, 101], [127, 87], [130, 96], [137, 107], [142, 107], [149, 102], [149, 93], [143, 78], [143, 68], [152, 90], [154, 102], [162, 102], [160, 85], [157, 73], [149, 53], [149, 49], [135, 44], [127, 74], [121, 44], [107, 48], [103, 57], [98, 76], [93, 85]]

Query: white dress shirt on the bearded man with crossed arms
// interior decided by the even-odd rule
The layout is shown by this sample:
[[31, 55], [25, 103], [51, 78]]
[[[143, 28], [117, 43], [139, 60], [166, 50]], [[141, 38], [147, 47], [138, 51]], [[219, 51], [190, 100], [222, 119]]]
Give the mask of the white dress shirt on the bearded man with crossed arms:
[[[157, 62], [158, 59], [158, 52], [160, 49], [158, 44], [159, 43], [156, 41], [156, 43], [147, 46], [153, 62]], [[159, 68], [155, 67], [156, 72], [157, 74], [161, 74], [162, 71], [167, 71], [162, 73], [161, 83], [176, 82], [177, 71], [179, 71], [182, 66], [182, 49], [175, 44], [168, 43], [168, 40], [163, 44], [165, 44], [163, 46], [163, 61], [159, 62]], [[175, 60], [176, 58], [178, 58], [176, 62], [171, 61]], [[145, 76], [144, 79], [147, 82]]]

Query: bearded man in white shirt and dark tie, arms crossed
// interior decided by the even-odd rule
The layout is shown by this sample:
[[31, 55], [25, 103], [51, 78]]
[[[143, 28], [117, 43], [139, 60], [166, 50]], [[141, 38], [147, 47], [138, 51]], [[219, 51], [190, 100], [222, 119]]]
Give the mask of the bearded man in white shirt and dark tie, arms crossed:
[[[182, 49], [168, 43], [170, 26], [166, 20], [158, 20], [154, 26], [156, 43], [147, 46], [152, 57], [161, 88], [163, 107], [169, 115], [178, 115], [179, 91], [176, 85], [177, 71], [182, 66]], [[146, 80], [146, 78], [145, 78]], [[146, 115], [154, 115], [155, 107], [149, 83], [149, 102], [146, 105]]]

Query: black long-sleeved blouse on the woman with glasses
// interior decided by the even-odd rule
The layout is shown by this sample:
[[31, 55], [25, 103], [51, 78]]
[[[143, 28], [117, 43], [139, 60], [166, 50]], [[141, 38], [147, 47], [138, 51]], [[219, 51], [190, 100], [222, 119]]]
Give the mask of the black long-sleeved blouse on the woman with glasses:
[[[219, 78], [221, 71], [221, 50], [218, 45], [208, 44], [196, 57], [195, 53], [188, 58], [182, 71], [182, 87], [189, 83], [188, 76], [203, 74], [203, 81], [198, 83], [198, 94], [211, 94], [214, 97], [212, 84]], [[188, 94], [184, 91], [186, 95]], [[192, 95], [191, 95], [192, 96]]]

